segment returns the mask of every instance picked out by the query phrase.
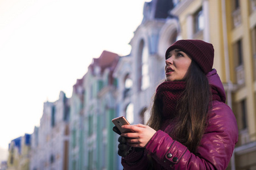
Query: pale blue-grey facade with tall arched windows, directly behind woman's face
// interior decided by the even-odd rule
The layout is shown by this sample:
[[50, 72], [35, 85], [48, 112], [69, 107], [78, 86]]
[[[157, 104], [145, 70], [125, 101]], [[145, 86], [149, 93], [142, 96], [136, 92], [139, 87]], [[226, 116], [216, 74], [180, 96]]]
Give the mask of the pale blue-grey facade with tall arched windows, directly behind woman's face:
[[151, 97], [156, 86], [164, 79], [164, 52], [177, 37], [176, 30], [170, 28], [171, 23], [176, 24], [176, 20], [167, 22], [171, 8], [172, 1], [145, 2], [144, 18], [130, 41], [134, 124], [146, 123]]

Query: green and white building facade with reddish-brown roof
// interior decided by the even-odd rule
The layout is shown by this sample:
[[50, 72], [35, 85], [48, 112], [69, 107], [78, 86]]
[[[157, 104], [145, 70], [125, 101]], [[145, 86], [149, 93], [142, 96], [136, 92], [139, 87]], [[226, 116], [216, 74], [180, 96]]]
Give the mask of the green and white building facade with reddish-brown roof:
[[69, 169], [117, 169], [117, 140], [111, 120], [117, 116], [115, 53], [94, 58], [88, 72], [73, 86]]

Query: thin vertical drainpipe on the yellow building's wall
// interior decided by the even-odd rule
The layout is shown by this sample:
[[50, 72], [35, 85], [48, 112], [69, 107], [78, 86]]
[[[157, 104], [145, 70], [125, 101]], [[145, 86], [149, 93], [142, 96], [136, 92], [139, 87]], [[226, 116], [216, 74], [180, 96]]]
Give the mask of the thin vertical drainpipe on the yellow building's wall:
[[[228, 51], [228, 33], [226, 27], [226, 4], [225, 0], [221, 0], [221, 9], [222, 9], [222, 25], [223, 25], [223, 42], [224, 42], [224, 58], [225, 58], [225, 74], [226, 74], [226, 82], [228, 83], [227, 89], [227, 99], [228, 105], [232, 109], [232, 82], [230, 80], [230, 72], [229, 72], [229, 51]], [[235, 163], [235, 154], [233, 152], [232, 158], [230, 160], [231, 170], [236, 170], [236, 163]]]

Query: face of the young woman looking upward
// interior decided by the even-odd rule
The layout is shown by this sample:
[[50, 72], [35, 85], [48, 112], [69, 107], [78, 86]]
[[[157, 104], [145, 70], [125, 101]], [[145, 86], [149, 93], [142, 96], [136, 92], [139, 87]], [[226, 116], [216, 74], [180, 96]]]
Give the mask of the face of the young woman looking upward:
[[191, 62], [191, 58], [186, 53], [179, 49], [171, 50], [166, 59], [166, 66], [164, 68], [166, 71], [166, 80], [183, 80]]

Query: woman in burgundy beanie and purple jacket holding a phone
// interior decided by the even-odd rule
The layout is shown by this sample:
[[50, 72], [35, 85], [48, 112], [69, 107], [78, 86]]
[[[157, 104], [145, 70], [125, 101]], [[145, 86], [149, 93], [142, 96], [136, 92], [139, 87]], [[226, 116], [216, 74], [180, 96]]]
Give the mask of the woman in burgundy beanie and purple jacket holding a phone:
[[212, 44], [201, 40], [179, 40], [167, 49], [166, 81], [156, 88], [147, 125], [122, 126], [135, 131], [118, 139], [124, 169], [228, 166], [238, 129], [213, 57]]

